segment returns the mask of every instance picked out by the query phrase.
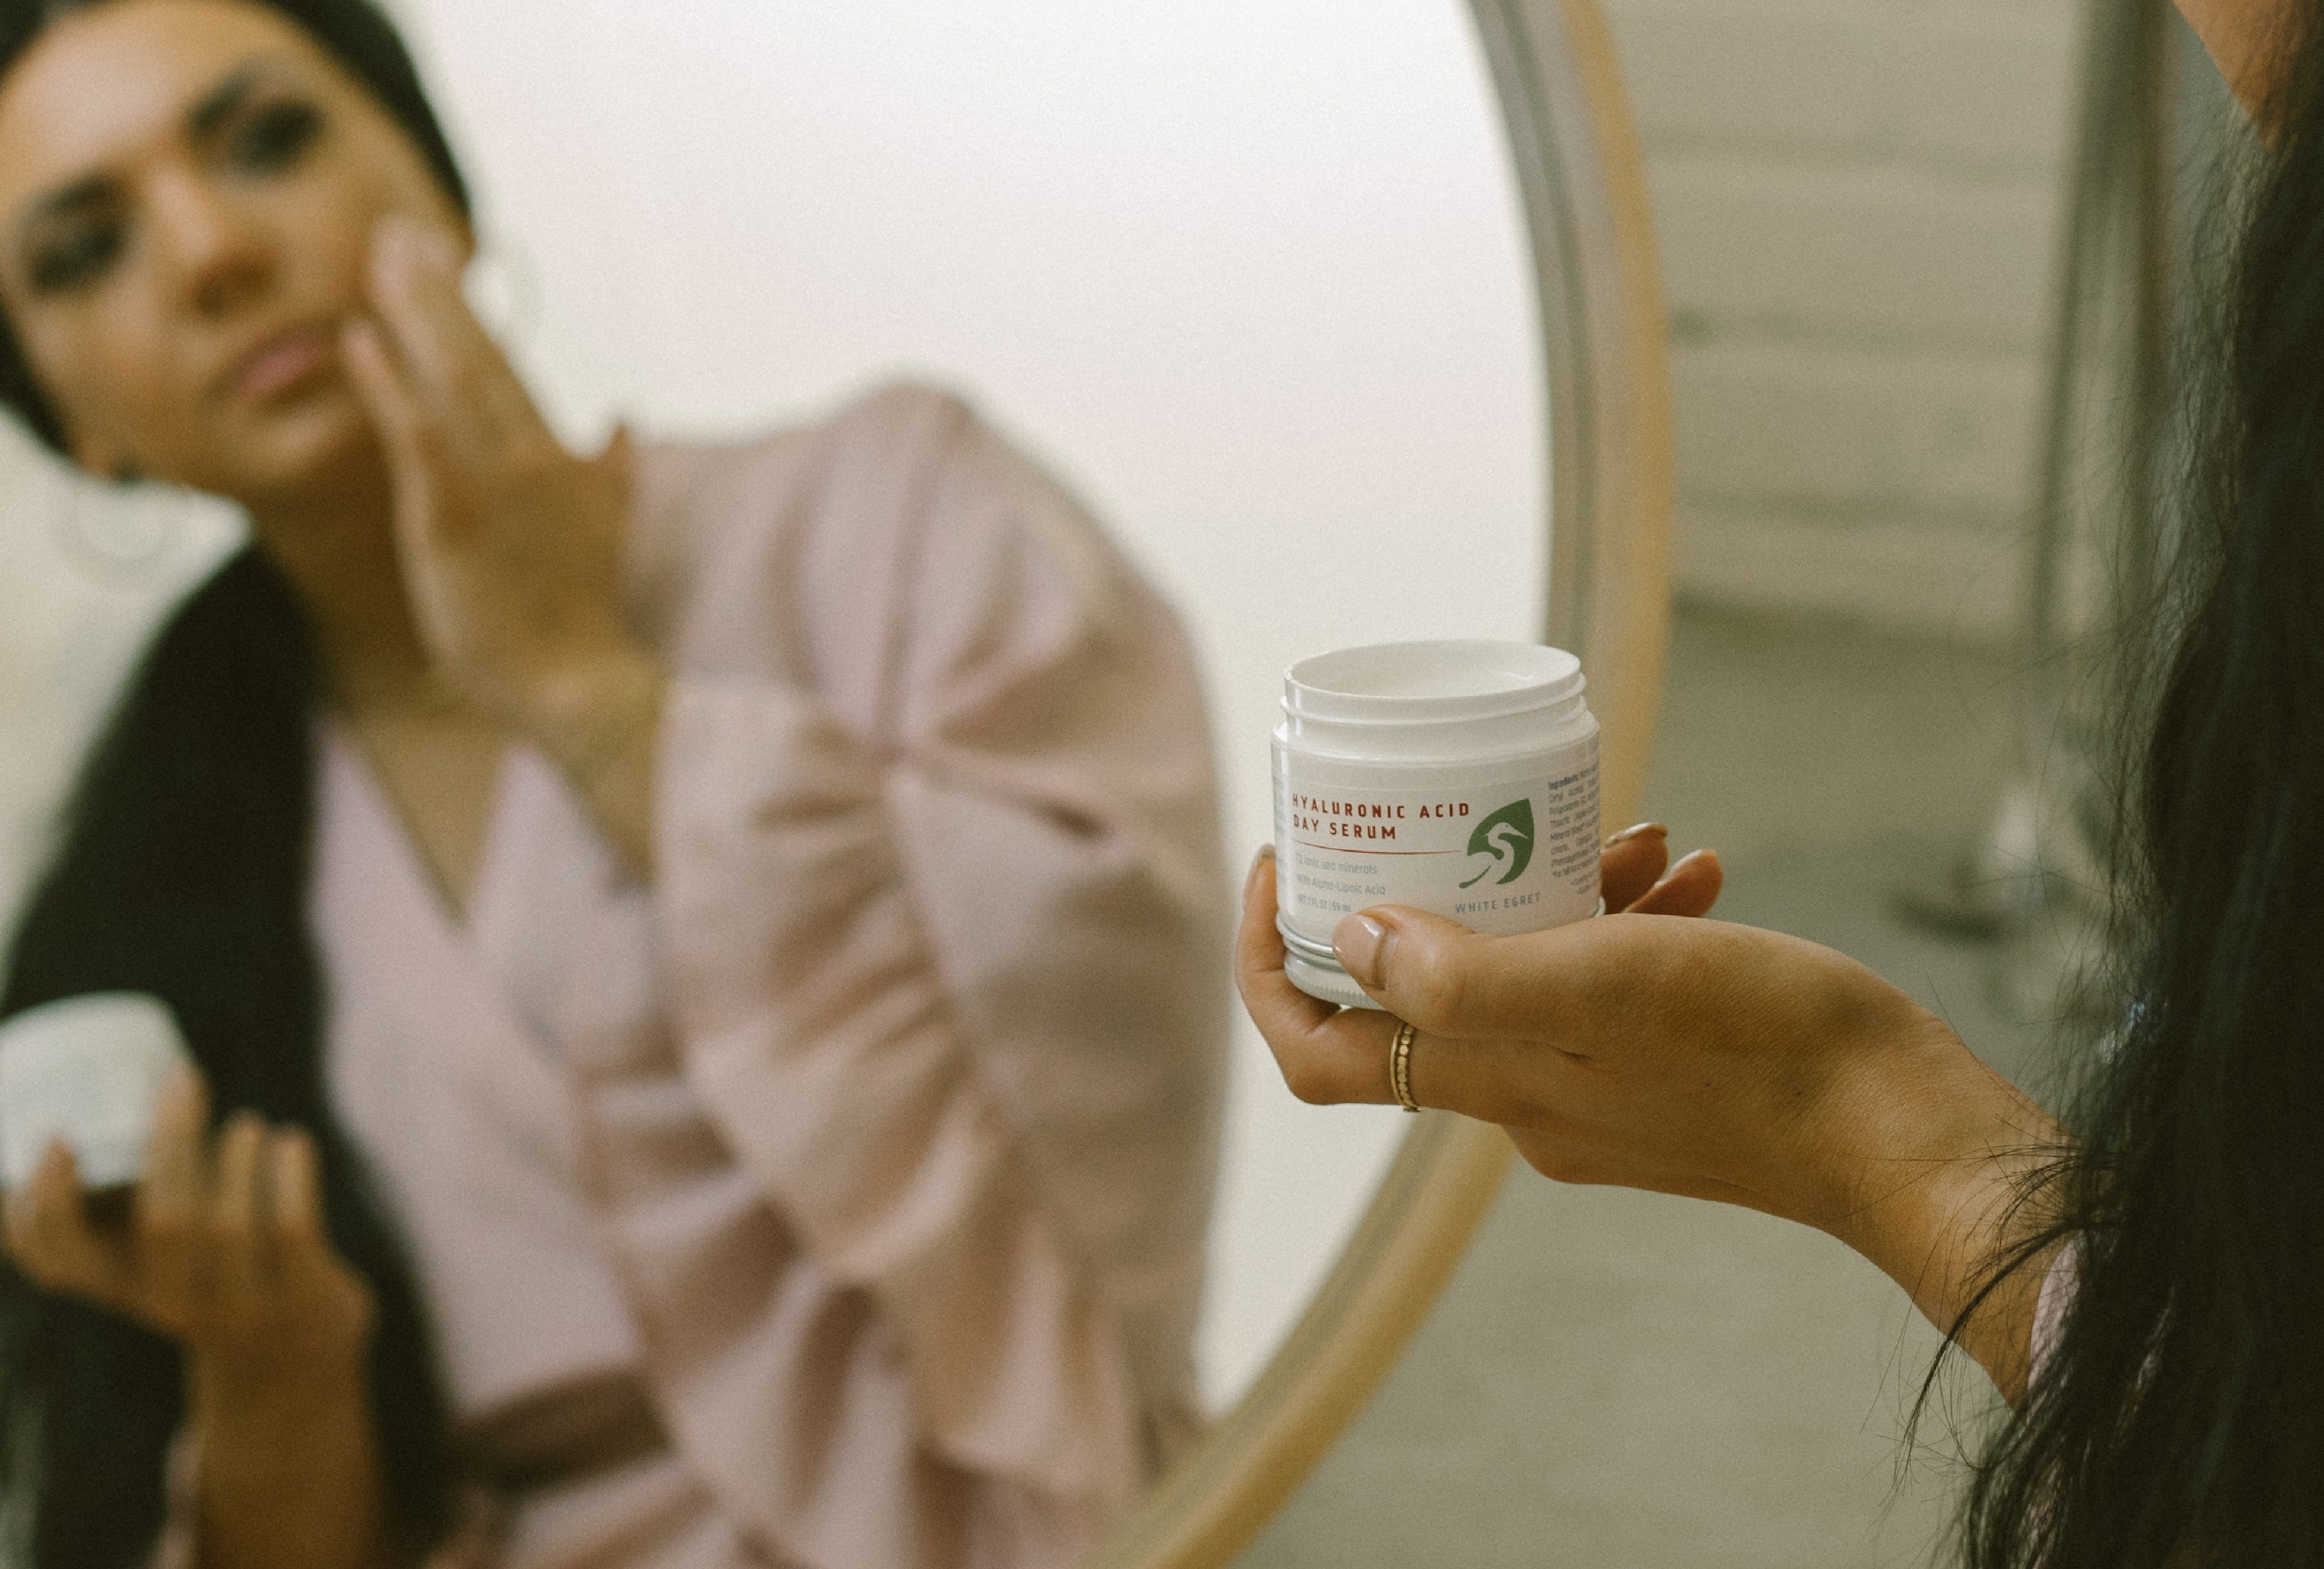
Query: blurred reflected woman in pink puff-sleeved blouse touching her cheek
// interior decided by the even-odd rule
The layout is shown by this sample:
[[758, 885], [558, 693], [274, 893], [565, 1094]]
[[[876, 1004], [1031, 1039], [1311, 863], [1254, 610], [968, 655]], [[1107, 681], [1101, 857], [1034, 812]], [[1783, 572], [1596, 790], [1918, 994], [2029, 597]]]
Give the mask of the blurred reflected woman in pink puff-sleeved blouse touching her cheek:
[[[960, 402], [565, 453], [367, 0], [0, 2], [0, 395], [258, 546], [0, 1011], [160, 995], [7, 1195], [30, 1562], [1076, 1562], [1192, 1430], [1222, 946], [1178, 630]], [[170, 1488], [165, 1488], [165, 1469]]]

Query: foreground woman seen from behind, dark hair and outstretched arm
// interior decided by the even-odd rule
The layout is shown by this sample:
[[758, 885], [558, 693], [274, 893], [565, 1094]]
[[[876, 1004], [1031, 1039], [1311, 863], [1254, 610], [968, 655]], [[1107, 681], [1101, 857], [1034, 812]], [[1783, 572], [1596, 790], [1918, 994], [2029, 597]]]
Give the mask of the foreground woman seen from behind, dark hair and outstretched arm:
[[[1559, 1181], [1822, 1227], [1903, 1285], [2020, 1404], [1971, 1490], [1973, 1569], [2324, 1564], [2324, 16], [2185, 9], [2266, 167], [2126, 834], [2138, 1006], [2073, 1137], [1864, 967], [1673, 918], [1720, 872], [1662, 876], [1659, 830], [1606, 851], [1620, 918], [1336, 932], [1420, 1030], [1420, 1102]], [[1264, 858], [1239, 981], [1299, 1095], [1392, 1097], [1394, 1018], [1285, 983]]]

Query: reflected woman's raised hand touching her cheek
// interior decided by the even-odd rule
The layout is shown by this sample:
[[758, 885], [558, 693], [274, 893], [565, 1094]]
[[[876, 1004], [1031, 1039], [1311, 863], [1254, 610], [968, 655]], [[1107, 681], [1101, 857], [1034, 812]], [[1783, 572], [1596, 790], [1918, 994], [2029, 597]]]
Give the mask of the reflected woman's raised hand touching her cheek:
[[483, 714], [593, 772], [651, 723], [660, 676], [621, 621], [630, 442], [558, 442], [460, 295], [462, 249], [386, 218], [374, 318], [346, 328], [349, 374], [386, 453], [418, 637]]

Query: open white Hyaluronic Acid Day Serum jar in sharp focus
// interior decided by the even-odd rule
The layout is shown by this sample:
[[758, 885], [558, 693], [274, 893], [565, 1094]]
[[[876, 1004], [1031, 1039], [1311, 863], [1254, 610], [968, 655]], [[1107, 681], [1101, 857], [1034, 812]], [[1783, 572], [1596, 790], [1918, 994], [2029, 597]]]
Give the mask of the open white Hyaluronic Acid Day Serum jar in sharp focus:
[[1292, 986], [1378, 1006], [1332, 958], [1332, 927], [1373, 904], [1501, 937], [1594, 914], [1597, 737], [1564, 649], [1376, 644], [1292, 665], [1274, 748]]

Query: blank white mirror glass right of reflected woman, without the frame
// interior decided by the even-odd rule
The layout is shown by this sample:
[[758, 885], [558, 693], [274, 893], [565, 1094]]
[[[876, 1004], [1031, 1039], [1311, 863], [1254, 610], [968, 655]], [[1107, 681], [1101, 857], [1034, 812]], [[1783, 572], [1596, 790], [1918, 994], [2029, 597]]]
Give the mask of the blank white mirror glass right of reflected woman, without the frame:
[[[1162, 588], [1236, 862], [1281, 672], [1536, 637], [1543, 397], [1522, 214], [1434, 0], [402, 0], [469, 153], [483, 281], [576, 444], [971, 397]], [[574, 84], [586, 84], [574, 91]], [[1239, 1023], [1199, 1369], [1225, 1409], [1401, 1113], [1304, 1113]]]

